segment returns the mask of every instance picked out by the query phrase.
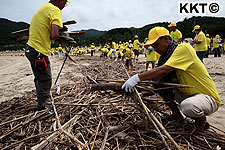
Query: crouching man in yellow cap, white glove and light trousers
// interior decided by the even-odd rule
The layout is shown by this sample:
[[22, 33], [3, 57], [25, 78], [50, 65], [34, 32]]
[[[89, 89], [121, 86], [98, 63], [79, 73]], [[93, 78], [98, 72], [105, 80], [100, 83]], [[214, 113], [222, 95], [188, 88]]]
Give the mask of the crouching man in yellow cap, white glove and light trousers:
[[185, 116], [195, 120], [197, 127], [209, 128], [206, 116], [217, 111], [221, 100], [213, 80], [204, 64], [198, 59], [195, 50], [190, 44], [178, 45], [171, 41], [169, 31], [164, 27], [155, 27], [149, 31], [149, 41], [145, 47], [148, 46], [152, 46], [157, 53], [161, 54], [158, 66], [132, 76], [122, 88], [131, 92], [138, 82], [153, 79], [194, 86], [194, 88], [161, 90], [159, 94], [170, 107], [172, 119], [182, 122], [182, 112]]

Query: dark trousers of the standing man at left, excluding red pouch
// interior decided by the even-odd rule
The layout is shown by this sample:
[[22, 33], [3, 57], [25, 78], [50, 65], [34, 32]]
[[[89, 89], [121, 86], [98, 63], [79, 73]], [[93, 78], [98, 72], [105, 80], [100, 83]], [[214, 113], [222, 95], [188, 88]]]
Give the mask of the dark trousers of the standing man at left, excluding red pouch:
[[38, 70], [35, 67], [35, 59], [37, 58], [39, 52], [37, 52], [34, 48], [26, 45], [25, 48], [25, 55], [27, 59], [30, 61], [30, 65], [34, 74], [34, 84], [36, 87], [36, 94], [38, 104], [37, 107], [45, 107], [45, 103], [50, 97], [50, 89], [52, 85], [52, 74], [51, 74], [51, 67], [50, 61], [47, 56], [42, 55], [45, 57], [47, 68], [44, 70]]

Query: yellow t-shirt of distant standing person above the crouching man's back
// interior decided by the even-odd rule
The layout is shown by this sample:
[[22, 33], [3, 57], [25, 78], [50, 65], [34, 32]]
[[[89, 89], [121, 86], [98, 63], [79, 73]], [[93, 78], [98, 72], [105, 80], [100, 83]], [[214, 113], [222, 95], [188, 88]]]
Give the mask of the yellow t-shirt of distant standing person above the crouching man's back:
[[207, 51], [207, 44], [206, 44], [206, 36], [201, 31], [198, 35], [195, 36], [195, 40], [201, 42], [200, 44], [195, 44], [196, 51]]

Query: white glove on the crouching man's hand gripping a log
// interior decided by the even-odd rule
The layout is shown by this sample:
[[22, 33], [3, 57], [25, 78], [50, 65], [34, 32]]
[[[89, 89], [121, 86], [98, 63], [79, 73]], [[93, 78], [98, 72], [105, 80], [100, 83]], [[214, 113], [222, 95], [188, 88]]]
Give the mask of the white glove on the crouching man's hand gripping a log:
[[140, 81], [138, 75], [132, 76], [128, 79], [122, 86], [122, 89], [125, 89], [126, 92], [132, 93], [134, 91], [134, 86]]

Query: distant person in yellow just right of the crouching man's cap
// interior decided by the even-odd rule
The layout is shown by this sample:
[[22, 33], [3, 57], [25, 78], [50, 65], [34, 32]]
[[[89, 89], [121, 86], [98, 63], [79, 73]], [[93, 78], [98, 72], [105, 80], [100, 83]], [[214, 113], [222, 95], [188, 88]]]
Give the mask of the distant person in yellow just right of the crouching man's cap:
[[182, 42], [182, 33], [176, 28], [177, 24], [175, 22], [171, 22], [170, 25], [168, 25], [170, 28], [170, 36], [171, 38], [178, 43]]

